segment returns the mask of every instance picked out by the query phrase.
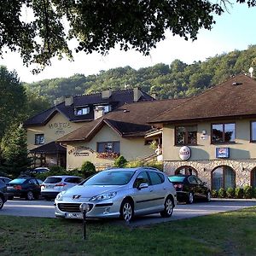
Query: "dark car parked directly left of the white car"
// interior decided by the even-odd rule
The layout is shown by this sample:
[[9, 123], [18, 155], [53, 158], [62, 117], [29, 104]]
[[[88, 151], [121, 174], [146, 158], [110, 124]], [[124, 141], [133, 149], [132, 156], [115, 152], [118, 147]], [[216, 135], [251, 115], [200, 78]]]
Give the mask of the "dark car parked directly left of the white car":
[[34, 177], [17, 177], [7, 184], [9, 199], [14, 196], [24, 197], [26, 200], [38, 199], [41, 181]]

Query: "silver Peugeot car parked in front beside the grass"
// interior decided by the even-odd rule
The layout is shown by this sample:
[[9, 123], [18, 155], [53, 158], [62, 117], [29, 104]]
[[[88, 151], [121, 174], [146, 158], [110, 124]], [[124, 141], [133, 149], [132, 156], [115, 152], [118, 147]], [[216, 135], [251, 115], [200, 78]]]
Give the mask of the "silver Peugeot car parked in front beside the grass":
[[123, 218], [160, 212], [171, 217], [176, 206], [176, 190], [166, 174], [150, 167], [116, 168], [98, 172], [55, 199], [55, 217]]

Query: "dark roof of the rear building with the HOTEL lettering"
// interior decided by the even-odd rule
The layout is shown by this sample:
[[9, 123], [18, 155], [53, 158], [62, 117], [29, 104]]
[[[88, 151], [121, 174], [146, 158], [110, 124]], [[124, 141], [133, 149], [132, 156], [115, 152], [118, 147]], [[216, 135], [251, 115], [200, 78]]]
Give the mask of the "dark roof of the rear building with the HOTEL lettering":
[[[140, 90], [141, 96], [139, 102], [142, 101], [154, 101], [152, 96], [149, 96], [146, 92]], [[79, 121], [91, 121], [94, 119], [93, 106], [111, 104], [112, 108], [119, 108], [125, 102], [134, 101], [134, 91], [130, 90], [116, 90], [113, 91], [109, 98], [102, 98], [102, 93], [73, 96], [73, 104], [71, 106], [65, 106], [65, 102], [61, 102], [53, 108], [49, 108], [42, 113], [38, 113], [31, 119], [27, 119], [24, 122], [25, 126], [37, 126], [45, 125], [49, 122], [55, 113], [62, 113], [71, 122]], [[90, 107], [90, 113], [85, 115], [75, 115], [74, 108], [78, 107]]]

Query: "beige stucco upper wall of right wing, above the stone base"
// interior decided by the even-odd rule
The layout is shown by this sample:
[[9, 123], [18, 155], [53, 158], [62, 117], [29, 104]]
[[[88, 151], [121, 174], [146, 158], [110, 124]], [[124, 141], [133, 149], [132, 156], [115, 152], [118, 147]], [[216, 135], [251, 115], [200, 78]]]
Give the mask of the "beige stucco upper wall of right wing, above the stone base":
[[[250, 143], [250, 119], [236, 120], [236, 143], [211, 144], [211, 123], [191, 124], [197, 125], [197, 145], [189, 146], [191, 157], [189, 160], [217, 160], [216, 148], [230, 148], [230, 159], [244, 160], [256, 159], [256, 143]], [[222, 123], [230, 121], [221, 121]], [[214, 122], [218, 123], [218, 122]], [[220, 123], [220, 122], [219, 122]], [[188, 124], [189, 125], [189, 124]], [[163, 129], [163, 157], [164, 160], [180, 160], [179, 149], [174, 145], [174, 125], [166, 125]], [[207, 139], [201, 139], [201, 131], [207, 131]]]

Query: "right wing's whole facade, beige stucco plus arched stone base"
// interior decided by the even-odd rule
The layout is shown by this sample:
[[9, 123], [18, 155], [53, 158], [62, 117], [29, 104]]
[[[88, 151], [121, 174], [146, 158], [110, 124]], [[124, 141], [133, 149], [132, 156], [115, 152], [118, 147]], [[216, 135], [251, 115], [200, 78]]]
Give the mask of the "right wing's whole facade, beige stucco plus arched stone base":
[[[251, 172], [256, 167], [256, 143], [250, 143], [251, 119], [236, 120], [236, 143], [211, 144], [211, 123], [202, 122], [197, 125], [197, 145], [189, 146], [191, 157], [189, 160], [179, 158], [181, 146], [174, 143], [174, 125], [165, 125], [163, 129], [163, 159], [164, 171], [173, 175], [178, 167], [191, 166], [203, 181], [211, 186], [212, 171], [218, 166], [230, 166], [236, 173], [236, 186], [242, 187], [251, 184]], [[230, 123], [230, 121], [217, 121], [216, 123]], [[207, 131], [207, 139], [201, 139], [202, 131]], [[229, 159], [217, 159], [216, 148], [230, 148]]]

